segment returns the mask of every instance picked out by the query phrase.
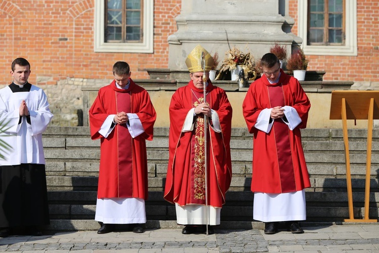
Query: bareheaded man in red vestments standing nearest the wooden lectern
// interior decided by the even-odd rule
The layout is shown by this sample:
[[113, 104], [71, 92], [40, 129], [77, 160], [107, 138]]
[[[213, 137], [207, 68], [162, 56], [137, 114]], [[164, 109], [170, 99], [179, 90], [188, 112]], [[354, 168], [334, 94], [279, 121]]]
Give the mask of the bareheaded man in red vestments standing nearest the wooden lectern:
[[265, 234], [274, 234], [278, 222], [303, 233], [305, 191], [310, 187], [301, 144], [310, 102], [299, 81], [280, 69], [274, 54], [261, 59], [263, 75], [254, 81], [243, 102], [243, 113], [254, 134], [254, 220], [265, 222]]

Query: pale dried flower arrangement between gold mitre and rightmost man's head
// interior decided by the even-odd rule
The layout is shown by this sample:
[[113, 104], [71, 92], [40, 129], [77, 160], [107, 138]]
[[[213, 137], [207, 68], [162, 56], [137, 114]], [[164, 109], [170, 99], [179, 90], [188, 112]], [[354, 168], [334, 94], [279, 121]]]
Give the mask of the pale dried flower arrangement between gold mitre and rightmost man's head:
[[220, 71], [216, 77], [216, 80], [222, 80], [225, 78], [225, 74], [233, 69], [236, 69], [237, 65], [240, 65], [244, 70], [245, 80], [254, 80], [257, 77], [257, 71], [255, 68], [254, 57], [251, 55], [250, 50], [244, 54], [239, 48], [233, 47], [225, 53], [225, 58], [220, 67]]

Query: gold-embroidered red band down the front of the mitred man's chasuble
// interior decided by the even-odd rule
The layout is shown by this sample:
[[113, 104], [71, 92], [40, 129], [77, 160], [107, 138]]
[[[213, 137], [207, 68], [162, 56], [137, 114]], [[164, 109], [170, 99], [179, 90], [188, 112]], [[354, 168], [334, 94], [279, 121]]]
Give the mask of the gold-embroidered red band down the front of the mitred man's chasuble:
[[[196, 107], [203, 102], [204, 94], [192, 90], [193, 106]], [[210, 96], [207, 96], [207, 104], [210, 104]], [[207, 137], [209, 146], [209, 134]], [[195, 116], [195, 126], [191, 141], [191, 203], [205, 204], [205, 183], [204, 114], [201, 113]]]

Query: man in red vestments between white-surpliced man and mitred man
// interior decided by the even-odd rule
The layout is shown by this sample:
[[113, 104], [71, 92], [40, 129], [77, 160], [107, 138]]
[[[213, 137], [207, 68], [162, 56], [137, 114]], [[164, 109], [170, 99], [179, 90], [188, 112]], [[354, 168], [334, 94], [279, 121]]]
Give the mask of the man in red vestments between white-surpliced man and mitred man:
[[153, 140], [156, 112], [148, 92], [130, 78], [126, 62], [113, 66], [114, 80], [99, 90], [89, 109], [92, 140], [101, 140], [98, 200], [95, 220], [99, 234], [115, 224], [146, 223], [148, 168], [145, 140]]

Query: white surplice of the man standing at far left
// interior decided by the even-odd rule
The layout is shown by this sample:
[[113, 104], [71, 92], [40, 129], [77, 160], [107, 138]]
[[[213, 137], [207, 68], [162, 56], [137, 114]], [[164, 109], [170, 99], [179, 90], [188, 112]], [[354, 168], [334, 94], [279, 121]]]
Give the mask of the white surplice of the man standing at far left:
[[[30, 113], [30, 124], [26, 117], [20, 120], [20, 105], [25, 100]], [[0, 165], [19, 165], [21, 163], [45, 164], [42, 146], [42, 133], [48, 127], [53, 114], [50, 112], [48, 98], [42, 89], [31, 86], [29, 92], [15, 92], [7, 86], [0, 90], [0, 122], [8, 122], [9, 129], [0, 135], [12, 150], [2, 152]], [[3, 121], [4, 120], [4, 121]]]

